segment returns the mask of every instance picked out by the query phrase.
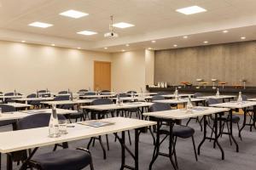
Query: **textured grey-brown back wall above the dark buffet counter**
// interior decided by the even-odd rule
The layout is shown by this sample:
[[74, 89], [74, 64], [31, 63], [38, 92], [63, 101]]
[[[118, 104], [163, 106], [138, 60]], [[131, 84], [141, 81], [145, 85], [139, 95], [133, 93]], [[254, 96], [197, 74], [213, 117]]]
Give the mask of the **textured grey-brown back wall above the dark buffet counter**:
[[256, 86], [256, 42], [235, 42], [194, 48], [167, 49], [155, 52], [154, 82], [179, 84], [203, 78], [217, 78], [229, 85], [247, 79]]

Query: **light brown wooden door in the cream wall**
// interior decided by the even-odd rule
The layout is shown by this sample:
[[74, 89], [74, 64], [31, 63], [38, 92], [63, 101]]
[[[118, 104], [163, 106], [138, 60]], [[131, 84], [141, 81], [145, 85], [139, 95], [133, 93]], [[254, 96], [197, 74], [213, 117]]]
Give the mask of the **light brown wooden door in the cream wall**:
[[94, 61], [94, 90], [111, 90], [111, 63]]

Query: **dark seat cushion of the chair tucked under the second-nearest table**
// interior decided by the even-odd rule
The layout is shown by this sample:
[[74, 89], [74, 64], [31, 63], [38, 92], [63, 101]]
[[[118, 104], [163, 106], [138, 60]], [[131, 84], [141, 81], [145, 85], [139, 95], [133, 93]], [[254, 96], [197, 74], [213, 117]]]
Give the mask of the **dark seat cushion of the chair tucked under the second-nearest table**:
[[189, 138], [193, 136], [193, 134], [195, 133], [194, 128], [183, 126], [183, 125], [174, 126], [172, 131], [173, 131], [173, 136], [177, 136], [179, 138]]

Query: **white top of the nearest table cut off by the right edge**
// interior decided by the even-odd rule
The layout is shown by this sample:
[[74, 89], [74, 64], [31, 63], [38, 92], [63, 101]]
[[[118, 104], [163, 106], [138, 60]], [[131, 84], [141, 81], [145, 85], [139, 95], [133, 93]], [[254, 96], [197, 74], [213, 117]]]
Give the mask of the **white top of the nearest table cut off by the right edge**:
[[224, 108], [230, 108], [230, 109], [242, 109], [246, 107], [250, 107], [256, 105], [256, 102], [254, 101], [242, 101], [242, 102], [226, 102], [226, 103], [220, 103], [220, 104], [214, 104], [210, 105], [212, 107], [224, 107]]

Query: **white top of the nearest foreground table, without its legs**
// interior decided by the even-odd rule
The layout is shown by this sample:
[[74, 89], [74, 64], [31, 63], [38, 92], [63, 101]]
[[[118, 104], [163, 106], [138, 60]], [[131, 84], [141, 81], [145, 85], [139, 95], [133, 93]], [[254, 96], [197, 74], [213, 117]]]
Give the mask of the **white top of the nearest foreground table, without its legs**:
[[[79, 139], [89, 139], [108, 133], [119, 133], [140, 127], [155, 125], [155, 122], [113, 117], [102, 119], [103, 121], [114, 122], [112, 125], [104, 127], [88, 127], [73, 123], [74, 127], [67, 127], [67, 134], [59, 138], [49, 138], [49, 127], [32, 128], [19, 131], [0, 133], [0, 152], [9, 153], [17, 150], [27, 150], [35, 147], [42, 147], [51, 144], [59, 144]], [[36, 138], [35, 138], [36, 136]]]

